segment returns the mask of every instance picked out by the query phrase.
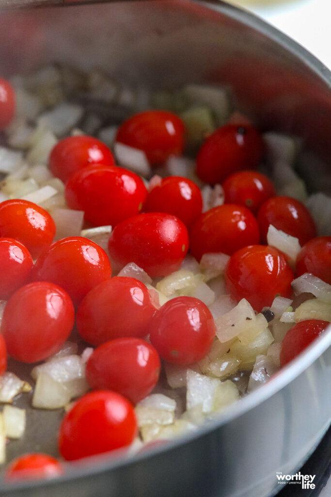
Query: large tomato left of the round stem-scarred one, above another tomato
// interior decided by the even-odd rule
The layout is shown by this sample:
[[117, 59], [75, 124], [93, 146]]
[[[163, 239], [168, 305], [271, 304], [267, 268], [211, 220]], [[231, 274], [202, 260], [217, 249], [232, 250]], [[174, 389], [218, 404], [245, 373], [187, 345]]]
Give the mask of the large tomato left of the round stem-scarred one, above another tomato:
[[143, 337], [155, 312], [149, 292], [141, 281], [115, 277], [94, 287], [77, 310], [79, 334], [100, 345], [114, 338]]

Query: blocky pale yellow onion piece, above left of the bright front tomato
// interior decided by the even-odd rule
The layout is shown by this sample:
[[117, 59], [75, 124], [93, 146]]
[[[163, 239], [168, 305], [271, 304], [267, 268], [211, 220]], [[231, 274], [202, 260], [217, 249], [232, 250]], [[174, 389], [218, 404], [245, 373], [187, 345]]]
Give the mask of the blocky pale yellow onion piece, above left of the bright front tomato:
[[32, 406], [41, 409], [59, 409], [70, 402], [71, 395], [66, 386], [54, 380], [45, 371], [38, 376]]

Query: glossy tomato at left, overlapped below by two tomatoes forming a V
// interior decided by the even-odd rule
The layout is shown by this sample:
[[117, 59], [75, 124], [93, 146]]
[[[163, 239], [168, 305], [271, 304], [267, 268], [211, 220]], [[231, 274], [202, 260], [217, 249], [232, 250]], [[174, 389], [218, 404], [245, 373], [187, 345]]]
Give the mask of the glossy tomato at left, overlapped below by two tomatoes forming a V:
[[111, 275], [104, 249], [83, 237], [55, 242], [38, 258], [31, 271], [33, 281], [51, 281], [64, 288], [75, 305]]

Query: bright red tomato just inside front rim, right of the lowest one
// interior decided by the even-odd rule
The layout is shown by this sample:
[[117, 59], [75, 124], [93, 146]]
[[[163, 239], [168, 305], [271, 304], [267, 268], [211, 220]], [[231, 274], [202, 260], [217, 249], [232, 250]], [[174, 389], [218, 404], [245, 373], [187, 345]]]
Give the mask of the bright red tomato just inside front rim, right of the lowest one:
[[132, 405], [116, 392], [81, 397], [62, 420], [59, 449], [67, 461], [130, 445], [137, 434]]

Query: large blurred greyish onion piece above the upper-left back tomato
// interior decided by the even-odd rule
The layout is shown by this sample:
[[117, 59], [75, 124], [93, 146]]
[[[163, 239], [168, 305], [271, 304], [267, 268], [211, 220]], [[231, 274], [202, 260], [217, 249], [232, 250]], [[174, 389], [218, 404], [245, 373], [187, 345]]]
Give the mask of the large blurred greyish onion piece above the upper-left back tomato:
[[44, 122], [57, 136], [69, 133], [83, 115], [80, 105], [63, 102], [40, 115], [38, 122]]

